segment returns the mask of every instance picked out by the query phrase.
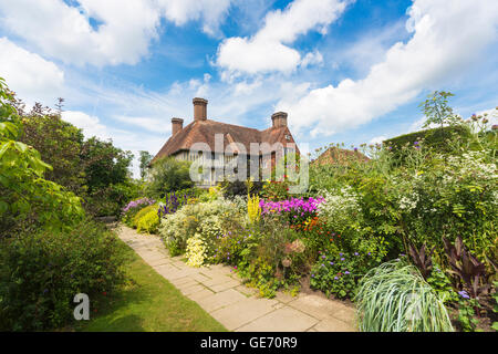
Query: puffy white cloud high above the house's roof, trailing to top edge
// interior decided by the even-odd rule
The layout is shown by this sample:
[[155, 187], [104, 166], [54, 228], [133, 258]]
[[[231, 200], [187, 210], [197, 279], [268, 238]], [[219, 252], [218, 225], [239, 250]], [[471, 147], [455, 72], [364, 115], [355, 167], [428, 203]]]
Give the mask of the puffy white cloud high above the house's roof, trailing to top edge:
[[[283, 11], [267, 14], [264, 25], [251, 38], [229, 38], [218, 48], [216, 64], [231, 73], [291, 72], [301, 54], [287, 44], [311, 30], [325, 33], [326, 27], [344, 11], [349, 1], [294, 0]], [[307, 54], [304, 66], [320, 62], [320, 53]]]

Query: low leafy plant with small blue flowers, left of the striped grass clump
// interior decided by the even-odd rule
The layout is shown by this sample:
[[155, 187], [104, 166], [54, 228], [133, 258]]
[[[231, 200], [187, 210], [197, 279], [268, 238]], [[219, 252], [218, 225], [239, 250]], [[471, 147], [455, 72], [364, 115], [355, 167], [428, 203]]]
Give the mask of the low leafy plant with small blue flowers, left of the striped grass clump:
[[310, 284], [328, 296], [332, 294], [339, 299], [353, 299], [360, 279], [377, 264], [372, 253], [321, 252], [311, 269]]

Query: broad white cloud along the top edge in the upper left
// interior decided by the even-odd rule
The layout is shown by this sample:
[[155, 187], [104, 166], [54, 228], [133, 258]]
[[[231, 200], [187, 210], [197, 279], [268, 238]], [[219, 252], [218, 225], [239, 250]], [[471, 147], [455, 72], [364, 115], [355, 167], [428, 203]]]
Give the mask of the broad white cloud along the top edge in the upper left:
[[[229, 0], [0, 1], [0, 25], [49, 58], [94, 65], [135, 64], [158, 35], [162, 17], [185, 24], [203, 20], [214, 32]], [[94, 22], [95, 21], [95, 22]], [[91, 25], [97, 23], [96, 28]]]

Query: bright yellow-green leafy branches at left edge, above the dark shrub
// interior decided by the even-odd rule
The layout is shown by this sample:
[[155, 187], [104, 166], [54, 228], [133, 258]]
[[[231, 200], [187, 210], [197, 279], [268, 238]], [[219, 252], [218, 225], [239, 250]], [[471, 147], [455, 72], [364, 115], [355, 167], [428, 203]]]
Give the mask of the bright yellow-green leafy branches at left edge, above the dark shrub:
[[62, 228], [83, 216], [80, 198], [43, 178], [52, 167], [40, 153], [19, 140], [22, 126], [13, 96], [0, 79], [0, 232], [15, 233], [29, 222]]

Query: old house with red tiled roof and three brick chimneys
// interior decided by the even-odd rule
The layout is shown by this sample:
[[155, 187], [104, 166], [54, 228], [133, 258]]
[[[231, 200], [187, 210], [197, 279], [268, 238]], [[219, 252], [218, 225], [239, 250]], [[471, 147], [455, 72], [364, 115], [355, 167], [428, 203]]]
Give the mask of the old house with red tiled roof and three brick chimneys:
[[206, 166], [209, 166], [210, 170], [198, 185], [211, 186], [224, 180], [227, 170], [237, 174], [235, 166], [241, 166], [237, 164], [248, 164], [249, 173], [240, 179], [258, 179], [261, 171], [271, 170], [282, 156], [299, 154], [284, 112], [272, 114], [271, 126], [258, 131], [208, 119], [208, 101], [205, 98], [196, 97], [193, 104], [194, 121], [184, 127], [184, 119], [172, 118], [172, 136], [153, 158], [152, 165], [166, 156], [188, 162], [208, 160]]

